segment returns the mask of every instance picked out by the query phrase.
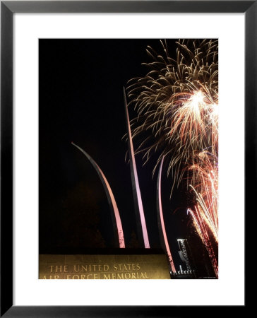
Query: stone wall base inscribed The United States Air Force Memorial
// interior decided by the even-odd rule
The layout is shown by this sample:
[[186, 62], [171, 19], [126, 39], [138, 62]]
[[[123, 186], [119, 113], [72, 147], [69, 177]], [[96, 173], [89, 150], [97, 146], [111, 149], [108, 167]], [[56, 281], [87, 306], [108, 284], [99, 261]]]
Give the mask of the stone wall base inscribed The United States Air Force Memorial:
[[[115, 253], [114, 253], [115, 252]], [[104, 250], [104, 254], [40, 254], [40, 279], [170, 279], [164, 252]]]

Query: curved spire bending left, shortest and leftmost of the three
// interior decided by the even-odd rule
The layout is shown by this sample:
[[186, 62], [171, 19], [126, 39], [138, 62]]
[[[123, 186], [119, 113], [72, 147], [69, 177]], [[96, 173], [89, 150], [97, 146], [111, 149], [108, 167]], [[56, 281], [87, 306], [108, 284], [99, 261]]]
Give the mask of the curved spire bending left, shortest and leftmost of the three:
[[[88, 153], [83, 151], [83, 149], [80, 148], [79, 146], [77, 146], [75, 143], [72, 142], [72, 144], [73, 144], [73, 146], [78, 148], [88, 158], [88, 160], [90, 160], [90, 163], [92, 163], [92, 166], [97, 171], [97, 175], [99, 175], [99, 177], [102, 181], [102, 185], [104, 186], [105, 194], [107, 195], [107, 199], [109, 202], [109, 208], [111, 209], [111, 212], [112, 212], [111, 216], [112, 216], [112, 223], [114, 226], [115, 245], [116, 245], [116, 247], [125, 248], [125, 240], [124, 240], [124, 234], [123, 234], [123, 229], [122, 229], [122, 224], [121, 224], [121, 218], [119, 216], [119, 210], [118, 210], [118, 207], [116, 205], [116, 201], [114, 199], [114, 194], [112, 193], [112, 189], [109, 186], [109, 182], [107, 181], [106, 177], [104, 176], [104, 173], [100, 169], [99, 165], [97, 165], [95, 160], [93, 160], [90, 157], [90, 155], [88, 155]], [[119, 244], [118, 244], [118, 242], [119, 242]]]

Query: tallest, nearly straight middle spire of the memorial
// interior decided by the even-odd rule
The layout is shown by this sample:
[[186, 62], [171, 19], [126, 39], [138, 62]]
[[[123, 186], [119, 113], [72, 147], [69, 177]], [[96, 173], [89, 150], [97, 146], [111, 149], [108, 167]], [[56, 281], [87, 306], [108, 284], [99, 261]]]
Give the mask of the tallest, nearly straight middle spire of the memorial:
[[131, 167], [131, 181], [132, 181], [132, 191], [134, 199], [134, 207], [136, 213], [136, 224], [138, 232], [138, 240], [141, 247], [150, 248], [148, 240], [148, 231], [145, 224], [145, 214], [143, 211], [143, 203], [141, 198], [141, 191], [138, 182], [138, 172], [136, 170], [136, 160], [135, 153], [133, 149], [133, 142], [131, 136], [131, 126], [128, 117], [128, 105], [126, 102], [126, 91], [124, 91], [124, 105], [125, 105], [125, 114], [126, 114], [126, 128], [128, 133], [128, 154], [129, 154], [129, 163]]

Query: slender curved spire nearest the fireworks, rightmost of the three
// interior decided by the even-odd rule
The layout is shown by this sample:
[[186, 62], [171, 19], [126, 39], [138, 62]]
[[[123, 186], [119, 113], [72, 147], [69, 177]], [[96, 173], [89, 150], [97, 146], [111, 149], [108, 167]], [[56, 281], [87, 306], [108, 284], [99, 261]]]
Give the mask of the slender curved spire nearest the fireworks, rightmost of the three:
[[169, 264], [173, 271], [173, 273], [176, 273], [176, 269], [174, 266], [174, 261], [172, 259], [172, 253], [169, 249], [169, 242], [166, 235], [165, 230], [165, 220], [163, 218], [162, 213], [162, 192], [161, 192], [161, 183], [162, 183], [162, 165], [163, 165], [164, 157], [162, 157], [162, 161], [160, 163], [160, 169], [158, 173], [158, 181], [157, 181], [157, 217], [158, 217], [158, 228], [159, 228], [159, 235], [160, 235], [160, 241], [162, 245], [162, 249], [167, 251], [167, 255], [169, 257]]

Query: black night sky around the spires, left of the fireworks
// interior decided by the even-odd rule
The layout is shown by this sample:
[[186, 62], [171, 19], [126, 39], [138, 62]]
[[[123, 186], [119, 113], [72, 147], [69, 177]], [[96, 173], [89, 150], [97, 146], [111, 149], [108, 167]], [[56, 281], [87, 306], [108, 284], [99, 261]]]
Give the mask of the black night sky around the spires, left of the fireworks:
[[[176, 54], [175, 40], [168, 43], [170, 54]], [[126, 245], [136, 247], [130, 167], [125, 162], [128, 145], [122, 140], [123, 86], [148, 72], [141, 65], [152, 61], [145, 52], [148, 45], [163, 53], [160, 40], [40, 40], [40, 253], [113, 246], [104, 188], [71, 141], [100, 165], [119, 208]], [[132, 107], [129, 115], [136, 116]], [[154, 158], [143, 166], [138, 155], [136, 163], [150, 246], [160, 247]], [[172, 180], [165, 173], [162, 180], [166, 230], [179, 266], [177, 238], [192, 235], [188, 198], [175, 190], [170, 200]], [[199, 243], [196, 237], [192, 240]]]

